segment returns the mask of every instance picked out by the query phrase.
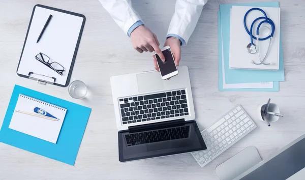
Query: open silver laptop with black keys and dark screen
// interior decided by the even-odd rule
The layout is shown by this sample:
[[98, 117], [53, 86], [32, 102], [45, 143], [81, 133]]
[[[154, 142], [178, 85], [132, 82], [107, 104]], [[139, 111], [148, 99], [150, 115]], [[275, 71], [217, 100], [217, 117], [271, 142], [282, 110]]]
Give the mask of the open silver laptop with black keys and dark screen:
[[110, 78], [120, 162], [206, 149], [196, 124], [189, 70], [162, 80], [146, 71]]

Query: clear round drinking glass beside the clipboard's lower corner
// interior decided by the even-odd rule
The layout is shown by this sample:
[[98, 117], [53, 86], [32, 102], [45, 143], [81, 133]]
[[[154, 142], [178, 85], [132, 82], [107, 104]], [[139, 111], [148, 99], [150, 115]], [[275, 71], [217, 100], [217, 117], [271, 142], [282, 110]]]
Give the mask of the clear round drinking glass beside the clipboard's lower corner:
[[85, 83], [83, 83], [82, 81], [76, 80], [76, 81], [71, 82], [71, 84], [69, 85], [68, 91], [72, 98], [82, 99], [82, 98], [86, 97], [88, 88]]

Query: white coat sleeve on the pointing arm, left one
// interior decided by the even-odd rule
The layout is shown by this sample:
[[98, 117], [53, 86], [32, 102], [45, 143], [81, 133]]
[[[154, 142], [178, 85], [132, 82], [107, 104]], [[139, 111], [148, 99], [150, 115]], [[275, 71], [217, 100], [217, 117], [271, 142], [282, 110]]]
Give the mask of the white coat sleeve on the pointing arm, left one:
[[133, 9], [131, 0], [99, 0], [116, 24], [127, 34], [129, 28], [137, 21], [142, 21]]

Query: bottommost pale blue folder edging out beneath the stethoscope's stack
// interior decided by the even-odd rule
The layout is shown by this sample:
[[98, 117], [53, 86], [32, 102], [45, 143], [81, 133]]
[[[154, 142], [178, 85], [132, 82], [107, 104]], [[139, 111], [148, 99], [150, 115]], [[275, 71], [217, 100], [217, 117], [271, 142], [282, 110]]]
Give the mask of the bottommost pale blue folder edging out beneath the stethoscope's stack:
[[[223, 76], [222, 76], [222, 40], [221, 40], [221, 15], [218, 12], [218, 89], [219, 91], [265, 91], [265, 92], [275, 92], [279, 91], [279, 82], [273, 82], [273, 88], [234, 88], [225, 89], [223, 88]], [[225, 74], [226, 76], [226, 74]]]

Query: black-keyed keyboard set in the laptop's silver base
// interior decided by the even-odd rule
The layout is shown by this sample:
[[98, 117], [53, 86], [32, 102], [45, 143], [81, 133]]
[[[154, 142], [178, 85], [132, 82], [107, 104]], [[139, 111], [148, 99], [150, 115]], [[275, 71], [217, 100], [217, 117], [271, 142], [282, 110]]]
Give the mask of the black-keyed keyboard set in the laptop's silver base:
[[119, 99], [123, 125], [189, 115], [186, 90]]

